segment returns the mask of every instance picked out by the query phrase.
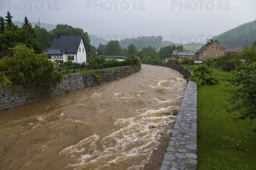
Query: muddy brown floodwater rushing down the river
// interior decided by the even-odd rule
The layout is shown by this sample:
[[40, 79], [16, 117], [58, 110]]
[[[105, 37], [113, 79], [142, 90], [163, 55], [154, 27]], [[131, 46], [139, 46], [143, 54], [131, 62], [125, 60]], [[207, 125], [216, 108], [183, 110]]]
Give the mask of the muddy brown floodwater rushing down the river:
[[0, 112], [0, 169], [142, 170], [171, 134], [185, 90], [177, 71], [143, 65], [118, 81]]

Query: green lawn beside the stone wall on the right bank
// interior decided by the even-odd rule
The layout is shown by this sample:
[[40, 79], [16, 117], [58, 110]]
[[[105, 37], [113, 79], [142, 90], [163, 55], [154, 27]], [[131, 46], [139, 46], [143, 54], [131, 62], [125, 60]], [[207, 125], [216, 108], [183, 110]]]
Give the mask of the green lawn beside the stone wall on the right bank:
[[[232, 73], [213, 68], [222, 78]], [[256, 134], [248, 136], [253, 121], [233, 122], [234, 114], [227, 113], [224, 105], [230, 94], [227, 82], [198, 88], [198, 170], [256, 170]]]

